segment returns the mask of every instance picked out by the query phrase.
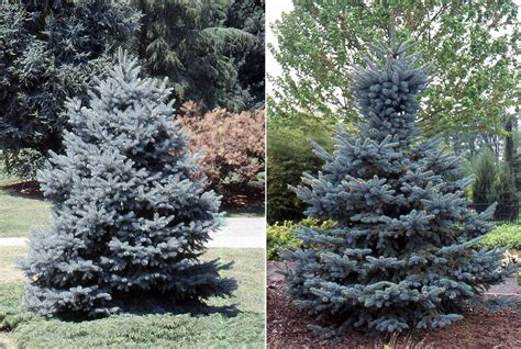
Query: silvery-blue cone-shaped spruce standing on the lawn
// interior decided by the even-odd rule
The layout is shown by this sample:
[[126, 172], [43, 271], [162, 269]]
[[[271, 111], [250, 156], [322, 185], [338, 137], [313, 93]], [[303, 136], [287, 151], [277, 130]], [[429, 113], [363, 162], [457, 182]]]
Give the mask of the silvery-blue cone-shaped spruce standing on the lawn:
[[228, 296], [235, 288], [219, 275], [226, 266], [199, 260], [218, 226], [219, 198], [204, 190], [171, 122], [166, 82], [140, 71], [120, 53], [89, 105], [68, 102], [65, 154], [52, 154], [38, 173], [53, 210], [51, 226], [31, 232], [22, 262], [29, 311], [102, 316], [136, 303]]

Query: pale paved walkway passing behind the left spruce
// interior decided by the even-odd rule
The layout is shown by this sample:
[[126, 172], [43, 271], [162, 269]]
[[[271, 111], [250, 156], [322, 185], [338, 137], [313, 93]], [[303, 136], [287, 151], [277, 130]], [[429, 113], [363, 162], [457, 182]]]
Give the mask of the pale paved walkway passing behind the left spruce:
[[[210, 234], [208, 247], [265, 248], [266, 226], [262, 218], [225, 218], [221, 229]], [[2, 237], [0, 246], [25, 246], [25, 237]]]

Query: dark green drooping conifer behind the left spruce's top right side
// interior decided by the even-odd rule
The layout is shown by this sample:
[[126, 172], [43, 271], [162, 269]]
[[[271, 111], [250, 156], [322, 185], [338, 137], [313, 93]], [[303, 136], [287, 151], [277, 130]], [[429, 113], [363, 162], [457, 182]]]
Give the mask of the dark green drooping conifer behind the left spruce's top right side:
[[[258, 37], [246, 29], [224, 26], [228, 1], [133, 3], [144, 13], [136, 37], [140, 57], [153, 76], [170, 78], [178, 105], [192, 100], [204, 110], [221, 106], [242, 111], [258, 104], [259, 95], [252, 95], [253, 87], [239, 78], [241, 63], [235, 59], [255, 50]], [[258, 31], [254, 27], [257, 23], [247, 25], [247, 30]]]

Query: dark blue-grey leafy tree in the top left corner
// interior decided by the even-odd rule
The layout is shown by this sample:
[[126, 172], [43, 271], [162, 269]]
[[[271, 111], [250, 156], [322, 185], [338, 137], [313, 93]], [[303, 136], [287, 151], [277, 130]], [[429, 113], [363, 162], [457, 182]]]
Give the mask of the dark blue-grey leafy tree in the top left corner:
[[125, 1], [0, 4], [0, 148], [5, 168], [32, 176], [62, 150], [66, 98], [86, 98], [107, 53], [137, 29]]

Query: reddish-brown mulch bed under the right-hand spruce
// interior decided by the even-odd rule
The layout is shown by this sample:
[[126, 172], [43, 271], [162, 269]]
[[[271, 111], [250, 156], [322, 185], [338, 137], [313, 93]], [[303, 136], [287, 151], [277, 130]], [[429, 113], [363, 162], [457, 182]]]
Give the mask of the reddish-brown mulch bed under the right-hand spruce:
[[521, 348], [521, 300], [513, 308], [497, 313], [476, 309], [465, 319], [437, 331], [418, 331], [392, 338], [374, 339], [363, 333], [348, 335], [342, 342], [318, 338], [308, 329], [306, 313], [288, 304], [280, 262], [267, 266], [268, 348]]

